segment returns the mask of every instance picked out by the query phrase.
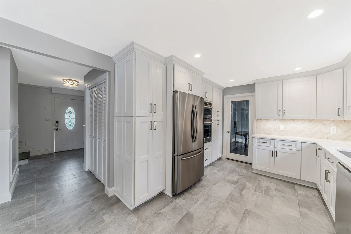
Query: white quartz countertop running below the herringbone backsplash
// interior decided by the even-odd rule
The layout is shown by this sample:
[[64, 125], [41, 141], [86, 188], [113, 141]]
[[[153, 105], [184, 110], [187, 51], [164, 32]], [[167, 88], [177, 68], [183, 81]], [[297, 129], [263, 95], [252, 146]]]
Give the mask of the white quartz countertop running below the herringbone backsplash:
[[338, 150], [351, 151], [351, 141], [336, 141], [336, 140], [319, 139], [319, 138], [275, 136], [275, 135], [265, 135], [265, 134], [254, 134], [252, 135], [252, 137], [276, 139], [276, 140], [283, 140], [283, 141], [315, 143], [318, 145], [318, 147], [323, 148], [329, 154], [334, 155], [339, 160], [340, 163], [342, 163], [346, 168], [351, 170], [351, 158], [338, 152]]

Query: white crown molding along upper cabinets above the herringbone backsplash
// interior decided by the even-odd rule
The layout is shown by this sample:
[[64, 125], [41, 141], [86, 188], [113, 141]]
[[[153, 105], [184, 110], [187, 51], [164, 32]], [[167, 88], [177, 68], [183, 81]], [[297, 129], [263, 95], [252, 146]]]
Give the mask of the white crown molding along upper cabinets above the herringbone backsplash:
[[267, 77], [263, 79], [256, 79], [253, 80], [255, 84], [260, 84], [260, 83], [266, 83], [266, 82], [271, 82], [271, 81], [276, 81], [276, 80], [286, 80], [286, 79], [292, 79], [292, 78], [299, 78], [299, 77], [306, 77], [306, 76], [316, 76], [325, 72], [337, 70], [340, 68], [345, 67], [347, 64], [351, 63], [351, 52], [347, 54], [347, 56], [339, 63], [332, 64], [326, 67], [322, 67], [317, 70], [312, 70], [312, 71], [305, 71], [305, 72], [298, 72], [298, 73], [293, 73], [293, 74], [287, 74], [287, 75], [282, 75], [282, 76], [273, 76], [273, 77]]

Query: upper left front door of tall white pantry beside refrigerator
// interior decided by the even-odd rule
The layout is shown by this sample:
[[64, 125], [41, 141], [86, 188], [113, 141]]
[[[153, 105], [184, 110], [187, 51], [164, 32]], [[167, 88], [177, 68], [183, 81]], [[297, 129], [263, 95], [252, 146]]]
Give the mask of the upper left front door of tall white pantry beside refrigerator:
[[152, 116], [153, 60], [143, 54], [135, 57], [135, 116]]

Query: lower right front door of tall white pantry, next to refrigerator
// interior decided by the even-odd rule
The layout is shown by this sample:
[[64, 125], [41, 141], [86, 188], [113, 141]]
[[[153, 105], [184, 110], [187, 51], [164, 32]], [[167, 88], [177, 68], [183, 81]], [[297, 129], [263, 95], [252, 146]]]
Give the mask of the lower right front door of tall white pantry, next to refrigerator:
[[166, 118], [153, 118], [152, 195], [166, 188]]

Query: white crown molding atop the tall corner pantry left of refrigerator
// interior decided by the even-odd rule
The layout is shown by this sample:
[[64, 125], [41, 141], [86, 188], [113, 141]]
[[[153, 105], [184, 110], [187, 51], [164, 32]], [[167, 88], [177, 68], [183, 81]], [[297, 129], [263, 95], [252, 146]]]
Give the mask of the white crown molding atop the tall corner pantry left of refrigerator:
[[132, 52], [138, 52], [141, 53], [149, 58], [152, 58], [156, 61], [159, 61], [160, 63], [165, 64], [165, 57], [162, 55], [146, 48], [145, 46], [142, 46], [135, 41], [132, 41], [129, 45], [124, 47], [122, 50], [120, 50], [117, 54], [115, 54], [112, 58], [115, 63], [117, 63], [119, 60], [122, 58], [126, 57], [128, 54]]

